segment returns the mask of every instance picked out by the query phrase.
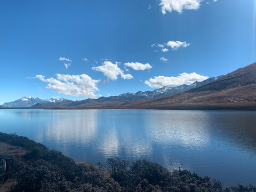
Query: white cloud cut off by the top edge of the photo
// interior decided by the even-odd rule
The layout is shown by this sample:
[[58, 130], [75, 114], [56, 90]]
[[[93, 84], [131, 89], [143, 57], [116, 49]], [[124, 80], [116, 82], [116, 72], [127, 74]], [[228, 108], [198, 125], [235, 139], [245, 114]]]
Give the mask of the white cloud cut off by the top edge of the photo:
[[182, 13], [183, 10], [197, 10], [200, 7], [202, 0], [161, 0], [159, 4], [162, 8], [162, 13], [177, 11]]

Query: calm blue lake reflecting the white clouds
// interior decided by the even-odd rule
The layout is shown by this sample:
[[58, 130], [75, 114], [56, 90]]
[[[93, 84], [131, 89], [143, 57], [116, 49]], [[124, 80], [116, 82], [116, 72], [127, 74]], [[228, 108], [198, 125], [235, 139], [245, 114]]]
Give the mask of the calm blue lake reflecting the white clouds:
[[2, 109], [0, 132], [16, 132], [78, 162], [148, 159], [224, 186], [256, 185], [252, 111]]

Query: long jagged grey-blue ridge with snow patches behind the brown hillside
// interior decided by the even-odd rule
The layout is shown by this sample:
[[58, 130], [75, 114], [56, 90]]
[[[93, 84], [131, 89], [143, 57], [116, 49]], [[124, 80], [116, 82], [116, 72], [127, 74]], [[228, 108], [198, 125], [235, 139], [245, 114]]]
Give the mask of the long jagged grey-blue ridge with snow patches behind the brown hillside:
[[133, 100], [142, 100], [142, 99], [152, 99], [152, 98], [159, 98], [164, 97], [166, 95], [171, 95], [175, 93], [180, 93], [183, 91], [187, 91], [190, 89], [193, 89], [194, 87], [198, 87], [204, 84], [207, 84], [209, 82], [215, 81], [221, 76], [218, 77], [212, 77], [208, 78], [202, 82], [194, 82], [191, 85], [180, 85], [176, 87], [167, 87], [164, 86], [160, 89], [156, 89], [154, 91], [139, 91], [137, 93], [123, 93], [118, 96], [110, 96], [110, 97], [100, 97], [98, 99], [85, 99], [82, 101], [62, 101], [59, 103], [37, 103], [34, 105], [34, 108], [63, 108], [63, 107], [74, 107], [74, 106], [81, 106], [81, 105], [91, 105], [92, 103], [95, 103], [97, 105], [100, 105], [100, 103], [106, 103], [106, 102], [127, 102], [127, 101], [133, 101]]

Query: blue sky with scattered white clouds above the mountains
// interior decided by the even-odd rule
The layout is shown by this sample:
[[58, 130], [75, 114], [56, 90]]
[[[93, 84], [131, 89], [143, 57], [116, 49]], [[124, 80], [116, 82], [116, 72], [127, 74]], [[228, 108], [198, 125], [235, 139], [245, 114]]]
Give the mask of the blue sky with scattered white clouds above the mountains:
[[154, 90], [256, 61], [256, 1], [187, 2], [0, 0], [0, 103]]

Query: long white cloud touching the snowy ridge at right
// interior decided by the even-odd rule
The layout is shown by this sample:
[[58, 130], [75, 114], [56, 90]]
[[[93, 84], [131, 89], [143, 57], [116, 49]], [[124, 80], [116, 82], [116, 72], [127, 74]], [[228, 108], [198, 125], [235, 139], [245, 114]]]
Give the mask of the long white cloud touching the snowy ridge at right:
[[174, 86], [179, 86], [183, 84], [190, 85], [195, 81], [201, 82], [207, 78], [209, 77], [199, 75], [196, 73], [190, 73], [190, 74], [182, 73], [182, 74], [179, 74], [178, 77], [155, 76], [154, 78], [150, 78], [149, 80], [145, 81], [145, 84], [150, 87], [156, 87], [156, 88], [160, 88], [163, 86], [174, 87]]

